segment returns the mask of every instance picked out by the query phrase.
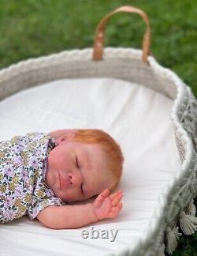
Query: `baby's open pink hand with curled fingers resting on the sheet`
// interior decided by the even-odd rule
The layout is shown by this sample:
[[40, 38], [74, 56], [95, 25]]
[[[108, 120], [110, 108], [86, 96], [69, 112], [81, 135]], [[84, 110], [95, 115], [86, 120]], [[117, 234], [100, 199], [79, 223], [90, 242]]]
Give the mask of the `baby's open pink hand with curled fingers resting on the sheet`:
[[113, 218], [117, 216], [122, 209], [122, 190], [109, 194], [110, 190], [104, 190], [93, 202], [93, 209], [99, 220]]

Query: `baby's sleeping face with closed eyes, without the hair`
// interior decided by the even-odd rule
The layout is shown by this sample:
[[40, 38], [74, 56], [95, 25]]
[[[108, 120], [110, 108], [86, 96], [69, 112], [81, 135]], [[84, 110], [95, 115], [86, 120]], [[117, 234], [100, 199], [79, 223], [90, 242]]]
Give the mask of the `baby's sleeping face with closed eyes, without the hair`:
[[63, 201], [82, 201], [113, 185], [100, 145], [56, 140], [47, 158], [46, 184]]

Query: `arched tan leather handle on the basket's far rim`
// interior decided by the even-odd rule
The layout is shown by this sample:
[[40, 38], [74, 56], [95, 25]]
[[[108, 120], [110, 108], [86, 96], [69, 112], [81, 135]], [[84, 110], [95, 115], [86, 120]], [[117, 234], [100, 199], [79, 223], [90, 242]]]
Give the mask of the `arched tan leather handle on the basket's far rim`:
[[147, 56], [150, 54], [150, 47], [151, 47], [151, 27], [149, 24], [149, 20], [146, 13], [143, 13], [141, 9], [138, 9], [133, 6], [121, 6], [120, 8], [114, 9], [111, 13], [108, 13], [106, 17], [102, 18], [99, 25], [96, 28], [95, 32], [95, 43], [93, 49], [93, 56], [94, 60], [101, 60], [103, 55], [103, 46], [104, 46], [104, 32], [106, 28], [106, 24], [108, 23], [109, 19], [115, 13], [138, 13], [142, 18], [143, 21], [147, 24], [147, 31], [143, 36], [143, 55], [142, 55], [142, 62], [148, 64]]

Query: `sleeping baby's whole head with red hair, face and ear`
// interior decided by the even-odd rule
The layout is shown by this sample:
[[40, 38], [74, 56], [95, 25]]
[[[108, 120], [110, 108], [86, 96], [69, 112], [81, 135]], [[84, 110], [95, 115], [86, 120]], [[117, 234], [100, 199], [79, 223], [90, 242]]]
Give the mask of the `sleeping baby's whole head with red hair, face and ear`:
[[67, 130], [47, 159], [46, 184], [63, 201], [112, 191], [121, 179], [121, 148], [102, 130]]

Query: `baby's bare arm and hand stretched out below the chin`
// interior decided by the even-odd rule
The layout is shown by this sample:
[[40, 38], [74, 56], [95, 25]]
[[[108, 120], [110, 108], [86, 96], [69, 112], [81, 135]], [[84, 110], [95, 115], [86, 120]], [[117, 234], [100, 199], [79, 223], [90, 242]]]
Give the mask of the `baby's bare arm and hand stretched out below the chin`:
[[122, 191], [110, 194], [104, 190], [93, 203], [86, 205], [51, 205], [37, 216], [47, 228], [80, 228], [87, 224], [117, 216], [122, 208]]

